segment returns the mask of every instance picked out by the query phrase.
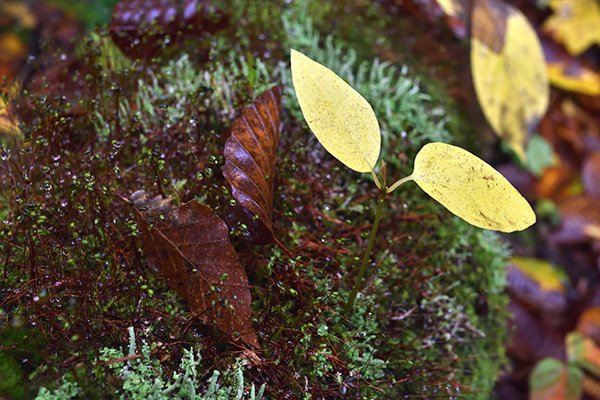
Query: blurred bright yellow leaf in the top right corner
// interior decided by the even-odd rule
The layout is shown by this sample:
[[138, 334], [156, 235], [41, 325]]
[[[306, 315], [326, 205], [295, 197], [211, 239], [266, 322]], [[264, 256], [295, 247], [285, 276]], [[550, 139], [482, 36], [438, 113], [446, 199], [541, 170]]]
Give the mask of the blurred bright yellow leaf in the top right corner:
[[554, 14], [544, 30], [563, 43], [571, 54], [600, 44], [600, 3], [597, 0], [550, 0]]

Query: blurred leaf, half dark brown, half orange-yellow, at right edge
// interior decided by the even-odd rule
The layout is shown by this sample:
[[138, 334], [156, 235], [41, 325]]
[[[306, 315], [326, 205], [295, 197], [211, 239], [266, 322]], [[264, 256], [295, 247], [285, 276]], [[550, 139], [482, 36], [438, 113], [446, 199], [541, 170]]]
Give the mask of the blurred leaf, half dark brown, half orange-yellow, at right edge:
[[542, 38], [542, 46], [552, 85], [588, 96], [600, 95], [600, 73], [597, 69], [571, 56], [551, 40]]

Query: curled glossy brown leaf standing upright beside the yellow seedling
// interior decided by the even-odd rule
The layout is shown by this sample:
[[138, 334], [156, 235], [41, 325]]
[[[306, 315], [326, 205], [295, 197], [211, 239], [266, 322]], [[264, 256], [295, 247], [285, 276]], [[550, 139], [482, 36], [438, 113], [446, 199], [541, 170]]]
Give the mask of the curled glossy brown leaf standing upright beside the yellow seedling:
[[267, 90], [236, 118], [225, 143], [223, 175], [233, 197], [273, 233], [273, 181], [281, 89]]

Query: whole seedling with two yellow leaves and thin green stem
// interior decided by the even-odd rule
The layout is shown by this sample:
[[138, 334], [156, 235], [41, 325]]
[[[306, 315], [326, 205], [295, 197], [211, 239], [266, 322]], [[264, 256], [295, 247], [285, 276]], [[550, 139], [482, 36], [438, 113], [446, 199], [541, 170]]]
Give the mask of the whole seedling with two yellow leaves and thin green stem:
[[385, 200], [406, 182], [414, 181], [450, 212], [480, 228], [514, 232], [535, 223], [531, 206], [506, 178], [477, 156], [446, 143], [423, 146], [415, 157], [413, 173], [388, 186], [383, 161], [381, 180], [375, 172], [381, 133], [367, 100], [333, 71], [296, 50], [291, 51], [291, 65], [302, 114], [319, 142], [348, 168], [370, 172], [380, 190], [346, 311], [352, 309], [363, 286]]

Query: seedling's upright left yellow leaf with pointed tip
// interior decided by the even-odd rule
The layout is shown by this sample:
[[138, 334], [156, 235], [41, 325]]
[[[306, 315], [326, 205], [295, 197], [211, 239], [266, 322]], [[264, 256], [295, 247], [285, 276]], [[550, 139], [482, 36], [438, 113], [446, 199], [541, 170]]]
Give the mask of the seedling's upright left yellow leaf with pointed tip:
[[296, 50], [291, 53], [292, 82], [310, 129], [348, 168], [372, 171], [381, 133], [371, 105], [330, 69]]

